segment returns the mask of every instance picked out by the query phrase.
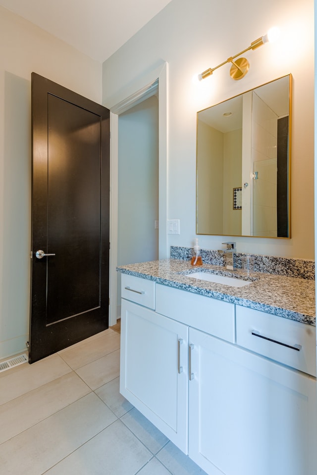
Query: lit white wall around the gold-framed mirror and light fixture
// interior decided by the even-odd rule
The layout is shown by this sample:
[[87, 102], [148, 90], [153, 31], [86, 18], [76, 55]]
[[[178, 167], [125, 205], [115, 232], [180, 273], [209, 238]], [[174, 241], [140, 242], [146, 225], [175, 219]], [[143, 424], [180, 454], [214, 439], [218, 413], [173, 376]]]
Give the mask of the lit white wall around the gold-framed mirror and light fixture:
[[[198, 85], [192, 77], [248, 47], [277, 25], [282, 37], [245, 55], [240, 81], [228, 65]], [[314, 258], [314, 2], [313, 0], [172, 0], [103, 65], [103, 103], [169, 63], [168, 215], [180, 219], [170, 245], [189, 246], [196, 229], [196, 112], [292, 73], [292, 238], [235, 238], [238, 251]], [[131, 91], [132, 94], [133, 91]], [[112, 101], [112, 102], [111, 102]], [[217, 249], [223, 237], [201, 236]]]

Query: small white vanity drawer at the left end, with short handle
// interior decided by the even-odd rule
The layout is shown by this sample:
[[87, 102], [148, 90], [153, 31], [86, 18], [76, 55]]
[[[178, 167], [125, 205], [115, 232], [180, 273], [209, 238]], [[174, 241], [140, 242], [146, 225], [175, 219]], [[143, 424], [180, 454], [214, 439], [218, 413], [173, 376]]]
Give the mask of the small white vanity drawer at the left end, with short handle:
[[155, 309], [155, 282], [121, 274], [121, 297]]

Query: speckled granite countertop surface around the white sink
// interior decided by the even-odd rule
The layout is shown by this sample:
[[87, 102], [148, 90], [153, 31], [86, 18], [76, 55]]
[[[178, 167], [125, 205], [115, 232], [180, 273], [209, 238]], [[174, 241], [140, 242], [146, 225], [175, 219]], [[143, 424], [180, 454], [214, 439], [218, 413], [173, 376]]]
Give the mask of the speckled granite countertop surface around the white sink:
[[[223, 266], [204, 264], [192, 267], [189, 261], [162, 259], [117, 267], [123, 274], [148, 279], [158, 284], [187, 290], [225, 302], [262, 310], [280, 317], [316, 325], [315, 281], [254, 272], [247, 275], [241, 269], [228, 271]], [[241, 276], [250, 285], [231, 287], [186, 277], [189, 272], [208, 272]]]

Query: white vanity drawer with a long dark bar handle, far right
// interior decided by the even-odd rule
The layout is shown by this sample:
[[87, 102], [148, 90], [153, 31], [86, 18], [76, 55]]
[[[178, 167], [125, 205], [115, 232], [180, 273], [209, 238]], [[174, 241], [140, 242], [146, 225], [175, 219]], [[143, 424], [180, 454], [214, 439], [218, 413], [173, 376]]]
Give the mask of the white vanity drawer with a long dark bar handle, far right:
[[316, 327], [312, 325], [237, 305], [236, 338], [244, 348], [316, 376]]

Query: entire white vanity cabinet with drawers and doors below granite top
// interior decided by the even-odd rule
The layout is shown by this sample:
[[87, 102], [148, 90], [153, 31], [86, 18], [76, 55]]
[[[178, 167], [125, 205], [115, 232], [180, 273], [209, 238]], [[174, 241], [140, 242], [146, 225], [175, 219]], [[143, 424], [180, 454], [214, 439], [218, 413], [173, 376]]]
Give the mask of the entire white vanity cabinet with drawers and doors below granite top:
[[316, 328], [122, 277], [120, 392], [210, 475], [315, 474]]

